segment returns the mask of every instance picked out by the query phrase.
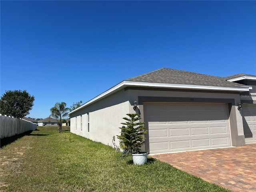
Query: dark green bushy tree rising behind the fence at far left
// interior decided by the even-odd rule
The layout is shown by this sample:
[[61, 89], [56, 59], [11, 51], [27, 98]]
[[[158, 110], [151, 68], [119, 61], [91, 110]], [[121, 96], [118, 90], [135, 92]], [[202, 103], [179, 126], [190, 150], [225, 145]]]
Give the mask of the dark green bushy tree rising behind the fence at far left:
[[0, 99], [0, 113], [15, 118], [22, 118], [29, 114], [34, 105], [35, 97], [26, 90], [6, 91]]

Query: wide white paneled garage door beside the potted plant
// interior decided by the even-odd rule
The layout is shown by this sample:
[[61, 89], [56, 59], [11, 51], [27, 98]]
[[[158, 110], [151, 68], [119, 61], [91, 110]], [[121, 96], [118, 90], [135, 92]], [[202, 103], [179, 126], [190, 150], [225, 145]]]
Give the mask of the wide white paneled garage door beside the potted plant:
[[227, 104], [144, 103], [150, 154], [230, 146]]

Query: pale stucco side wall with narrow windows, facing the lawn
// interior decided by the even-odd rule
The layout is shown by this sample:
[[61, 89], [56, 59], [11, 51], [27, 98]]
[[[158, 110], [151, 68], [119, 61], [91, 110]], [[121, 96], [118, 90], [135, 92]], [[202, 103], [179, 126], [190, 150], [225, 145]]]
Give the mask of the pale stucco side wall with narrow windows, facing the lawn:
[[[129, 113], [128, 92], [121, 90], [71, 114], [70, 132], [113, 146], [113, 136], [120, 134], [122, 118]], [[80, 119], [82, 115], [82, 131]], [[88, 132], [89, 115], [89, 132]], [[116, 144], [118, 141], [116, 138]]]

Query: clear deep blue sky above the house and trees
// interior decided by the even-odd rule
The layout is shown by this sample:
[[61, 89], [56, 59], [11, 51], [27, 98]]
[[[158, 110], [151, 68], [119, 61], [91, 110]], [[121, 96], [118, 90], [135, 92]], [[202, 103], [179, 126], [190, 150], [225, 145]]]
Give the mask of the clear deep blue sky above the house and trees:
[[2, 1], [0, 94], [32, 118], [166, 67], [256, 75], [256, 1]]

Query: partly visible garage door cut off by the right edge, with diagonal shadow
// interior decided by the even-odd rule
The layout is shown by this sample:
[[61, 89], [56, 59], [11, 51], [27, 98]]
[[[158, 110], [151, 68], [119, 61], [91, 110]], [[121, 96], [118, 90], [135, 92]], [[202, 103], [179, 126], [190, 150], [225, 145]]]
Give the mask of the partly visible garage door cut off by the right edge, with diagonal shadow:
[[242, 104], [245, 143], [256, 142], [256, 105]]

